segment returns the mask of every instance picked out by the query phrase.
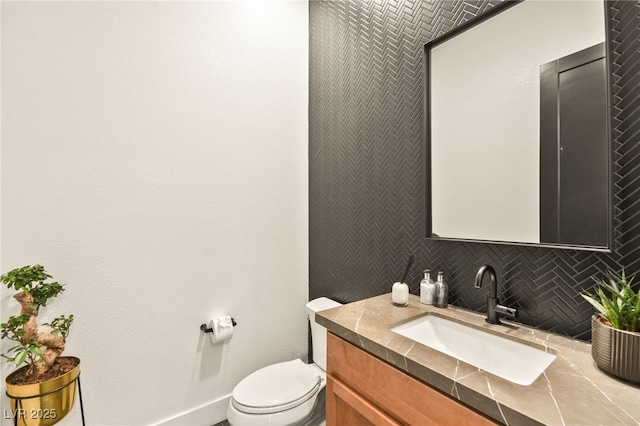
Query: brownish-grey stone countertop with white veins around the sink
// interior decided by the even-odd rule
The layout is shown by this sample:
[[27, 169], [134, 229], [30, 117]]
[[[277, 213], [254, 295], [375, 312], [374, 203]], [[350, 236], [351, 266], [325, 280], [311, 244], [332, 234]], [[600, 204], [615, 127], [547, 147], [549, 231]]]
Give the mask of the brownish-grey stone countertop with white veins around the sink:
[[[531, 385], [494, 376], [456, 358], [393, 333], [391, 328], [427, 314], [480, 327], [489, 333], [540, 347], [556, 359]], [[317, 323], [450, 397], [506, 425], [640, 425], [640, 387], [596, 367], [591, 345], [449, 305], [391, 303], [391, 294], [319, 312]]]

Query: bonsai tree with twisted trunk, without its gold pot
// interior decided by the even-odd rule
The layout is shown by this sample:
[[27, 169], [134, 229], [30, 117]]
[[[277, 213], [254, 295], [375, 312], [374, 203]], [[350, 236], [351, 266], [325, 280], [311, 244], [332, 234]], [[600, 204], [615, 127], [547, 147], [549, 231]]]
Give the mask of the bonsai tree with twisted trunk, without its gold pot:
[[73, 315], [61, 315], [49, 324], [48, 332], [39, 330], [36, 317], [40, 307], [64, 291], [63, 284], [50, 282], [53, 278], [42, 265], [23, 266], [0, 276], [7, 288], [18, 290], [13, 297], [20, 303], [20, 314], [12, 315], [0, 324], [1, 337], [17, 343], [3, 356], [16, 366], [28, 365], [27, 374], [44, 374], [62, 354], [65, 339], [73, 323]]

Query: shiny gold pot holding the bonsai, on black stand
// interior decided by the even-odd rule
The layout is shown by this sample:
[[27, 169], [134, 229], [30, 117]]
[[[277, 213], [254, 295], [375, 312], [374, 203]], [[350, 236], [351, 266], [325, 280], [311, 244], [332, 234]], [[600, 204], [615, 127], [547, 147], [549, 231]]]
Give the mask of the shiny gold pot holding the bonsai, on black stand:
[[[73, 357], [67, 357], [73, 358]], [[19, 426], [50, 426], [58, 423], [73, 408], [76, 397], [80, 360], [68, 373], [54, 379], [31, 385], [12, 385], [7, 376], [7, 396], [11, 400], [10, 414]], [[23, 367], [26, 368], [26, 367]]]

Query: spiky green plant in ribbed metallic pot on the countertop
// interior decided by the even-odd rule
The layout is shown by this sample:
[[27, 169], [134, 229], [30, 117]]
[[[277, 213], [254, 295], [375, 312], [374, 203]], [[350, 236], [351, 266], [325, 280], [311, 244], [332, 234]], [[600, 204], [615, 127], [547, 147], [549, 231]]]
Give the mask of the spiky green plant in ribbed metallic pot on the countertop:
[[624, 269], [593, 279], [595, 293], [582, 294], [598, 311], [591, 317], [591, 356], [601, 370], [640, 384], [640, 290], [633, 291]]

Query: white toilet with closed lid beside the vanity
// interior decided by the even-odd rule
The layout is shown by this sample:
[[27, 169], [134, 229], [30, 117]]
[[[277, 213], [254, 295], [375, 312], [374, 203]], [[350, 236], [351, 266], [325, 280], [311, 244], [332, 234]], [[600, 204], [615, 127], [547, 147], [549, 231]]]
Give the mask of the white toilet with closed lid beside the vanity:
[[315, 313], [336, 306], [341, 304], [326, 297], [307, 303], [314, 363], [279, 362], [242, 379], [227, 409], [232, 426], [305, 425], [315, 417], [314, 408], [323, 404], [318, 396], [326, 384], [327, 368], [327, 330], [315, 322]]

